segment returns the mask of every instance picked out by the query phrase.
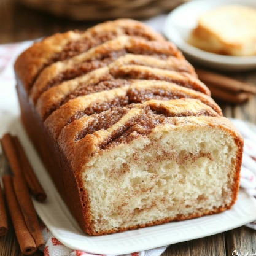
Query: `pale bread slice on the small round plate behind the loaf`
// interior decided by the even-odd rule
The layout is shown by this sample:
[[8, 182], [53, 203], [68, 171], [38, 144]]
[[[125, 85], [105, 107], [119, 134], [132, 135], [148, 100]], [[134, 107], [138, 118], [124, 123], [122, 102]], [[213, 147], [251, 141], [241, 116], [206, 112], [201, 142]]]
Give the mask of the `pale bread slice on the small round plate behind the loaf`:
[[223, 55], [256, 55], [256, 9], [223, 6], [201, 15], [190, 44]]

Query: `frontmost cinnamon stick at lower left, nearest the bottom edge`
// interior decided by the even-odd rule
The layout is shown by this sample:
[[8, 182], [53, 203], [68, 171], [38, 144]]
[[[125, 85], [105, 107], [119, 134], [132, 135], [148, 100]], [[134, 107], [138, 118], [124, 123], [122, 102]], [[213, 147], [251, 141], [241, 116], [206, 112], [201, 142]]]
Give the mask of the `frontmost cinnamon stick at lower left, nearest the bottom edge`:
[[4, 182], [4, 190], [10, 217], [14, 225], [15, 234], [17, 236], [21, 252], [26, 255], [34, 254], [34, 252], [37, 250], [37, 247], [33, 237], [26, 227], [26, 222], [20, 211], [20, 206], [18, 205], [18, 201], [14, 192], [14, 186], [12, 184], [12, 177], [6, 175], [2, 177], [2, 180]]

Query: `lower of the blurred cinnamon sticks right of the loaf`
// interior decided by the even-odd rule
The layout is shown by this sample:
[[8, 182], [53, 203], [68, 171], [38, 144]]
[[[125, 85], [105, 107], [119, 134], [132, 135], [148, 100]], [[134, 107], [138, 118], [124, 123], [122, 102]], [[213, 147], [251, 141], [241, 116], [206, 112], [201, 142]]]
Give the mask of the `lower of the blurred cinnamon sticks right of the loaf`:
[[252, 98], [251, 93], [237, 93], [234, 95], [210, 84], [208, 85], [208, 88], [210, 89], [213, 98], [222, 99], [223, 101], [226, 101], [228, 103], [241, 104]]

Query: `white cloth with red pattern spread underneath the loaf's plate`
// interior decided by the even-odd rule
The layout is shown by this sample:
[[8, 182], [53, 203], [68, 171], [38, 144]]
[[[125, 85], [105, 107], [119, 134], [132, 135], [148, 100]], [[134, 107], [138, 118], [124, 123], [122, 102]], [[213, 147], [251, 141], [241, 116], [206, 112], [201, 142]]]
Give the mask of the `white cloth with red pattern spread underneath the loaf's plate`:
[[[7, 124], [10, 118], [18, 115], [18, 100], [15, 93], [15, 78], [13, 64], [17, 56], [28, 48], [32, 41], [21, 42], [17, 44], [0, 45], [0, 115], [2, 133], [7, 131]], [[245, 139], [244, 156], [241, 170], [241, 187], [245, 188], [251, 196], [256, 196], [256, 126], [232, 119], [232, 122], [238, 128]], [[6, 125], [6, 127], [4, 127]], [[256, 219], [256, 216], [255, 216]], [[256, 230], [256, 221], [247, 224], [247, 227]], [[80, 252], [69, 249], [61, 244], [52, 233], [42, 223], [42, 234], [45, 239], [45, 246], [41, 248], [45, 256], [82, 256], [93, 255], [87, 252]], [[127, 256], [159, 256], [166, 250], [166, 246], [144, 252], [134, 252], [126, 254]]]

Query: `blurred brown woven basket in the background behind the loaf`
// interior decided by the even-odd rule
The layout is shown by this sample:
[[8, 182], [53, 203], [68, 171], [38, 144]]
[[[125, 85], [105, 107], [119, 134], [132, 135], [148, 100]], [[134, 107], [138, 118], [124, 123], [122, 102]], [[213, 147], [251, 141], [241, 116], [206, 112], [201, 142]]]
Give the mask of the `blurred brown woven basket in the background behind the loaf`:
[[185, 0], [0, 0], [0, 44], [83, 30], [115, 18], [145, 20]]

